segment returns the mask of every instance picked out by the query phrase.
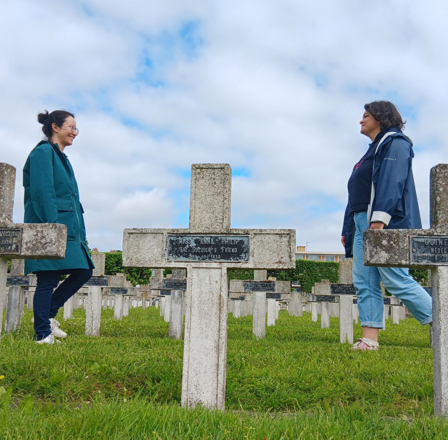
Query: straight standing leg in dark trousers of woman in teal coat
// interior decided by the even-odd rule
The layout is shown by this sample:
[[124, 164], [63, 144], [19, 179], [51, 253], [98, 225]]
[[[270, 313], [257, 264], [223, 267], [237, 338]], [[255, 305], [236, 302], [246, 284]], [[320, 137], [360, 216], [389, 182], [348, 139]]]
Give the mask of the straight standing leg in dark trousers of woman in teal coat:
[[60, 271], [39, 271], [37, 286], [34, 292], [34, 339], [40, 341], [51, 335], [50, 307], [52, 304], [53, 290], [60, 279]]

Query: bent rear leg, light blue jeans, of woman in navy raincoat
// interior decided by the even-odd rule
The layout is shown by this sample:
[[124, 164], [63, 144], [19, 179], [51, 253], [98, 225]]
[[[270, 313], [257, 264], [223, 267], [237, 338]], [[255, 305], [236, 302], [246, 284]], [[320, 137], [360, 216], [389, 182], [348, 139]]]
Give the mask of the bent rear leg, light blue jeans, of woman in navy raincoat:
[[403, 267], [378, 267], [384, 286], [422, 325], [432, 323], [432, 298]]

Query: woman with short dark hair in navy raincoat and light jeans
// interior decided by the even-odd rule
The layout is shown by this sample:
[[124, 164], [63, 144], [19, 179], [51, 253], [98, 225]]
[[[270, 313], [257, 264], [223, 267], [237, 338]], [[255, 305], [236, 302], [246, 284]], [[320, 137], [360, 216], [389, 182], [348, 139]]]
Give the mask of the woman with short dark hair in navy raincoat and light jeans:
[[401, 115], [388, 101], [366, 104], [364, 110], [361, 134], [372, 142], [349, 178], [341, 242], [345, 256], [353, 257], [353, 285], [362, 325], [363, 337], [353, 349], [376, 350], [378, 332], [383, 328], [381, 280], [422, 325], [432, 322], [432, 302], [426, 290], [409, 275], [409, 269], [363, 264], [362, 240], [367, 228], [422, 227], [412, 174], [412, 141], [401, 131]]

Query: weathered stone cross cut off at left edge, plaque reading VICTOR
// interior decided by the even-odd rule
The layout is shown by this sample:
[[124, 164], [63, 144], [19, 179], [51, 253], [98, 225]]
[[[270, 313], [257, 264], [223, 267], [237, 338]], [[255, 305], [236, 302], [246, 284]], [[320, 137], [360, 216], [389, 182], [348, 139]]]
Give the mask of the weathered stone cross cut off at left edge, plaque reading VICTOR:
[[[0, 311], [2, 312], [8, 260], [62, 259], [65, 258], [67, 241], [65, 224], [13, 223], [15, 181], [16, 168], [0, 163]], [[13, 289], [11, 297], [17, 297], [16, 289]], [[0, 331], [1, 320], [0, 318]]]

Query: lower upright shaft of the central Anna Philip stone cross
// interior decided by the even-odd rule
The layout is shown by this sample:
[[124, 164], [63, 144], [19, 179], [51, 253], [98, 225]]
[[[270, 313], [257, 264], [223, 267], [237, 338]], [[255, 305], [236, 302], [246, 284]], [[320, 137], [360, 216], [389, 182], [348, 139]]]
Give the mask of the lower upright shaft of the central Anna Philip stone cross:
[[188, 269], [182, 406], [224, 408], [227, 268]]

